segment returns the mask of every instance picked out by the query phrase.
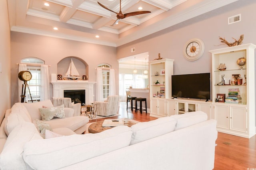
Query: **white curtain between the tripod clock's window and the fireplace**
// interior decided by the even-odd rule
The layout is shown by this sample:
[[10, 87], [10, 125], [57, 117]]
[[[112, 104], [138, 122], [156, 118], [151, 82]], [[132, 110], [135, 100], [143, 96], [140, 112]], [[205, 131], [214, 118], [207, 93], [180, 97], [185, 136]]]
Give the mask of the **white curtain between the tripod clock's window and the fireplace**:
[[50, 99], [49, 66], [41, 65], [40, 101]]

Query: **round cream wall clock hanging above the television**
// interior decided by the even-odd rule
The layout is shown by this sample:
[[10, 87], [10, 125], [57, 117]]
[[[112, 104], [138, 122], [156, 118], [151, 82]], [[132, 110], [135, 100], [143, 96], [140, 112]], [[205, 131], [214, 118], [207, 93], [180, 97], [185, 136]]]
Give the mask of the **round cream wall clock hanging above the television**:
[[200, 39], [192, 39], [186, 42], [183, 55], [188, 61], [199, 59], [204, 53], [204, 42]]

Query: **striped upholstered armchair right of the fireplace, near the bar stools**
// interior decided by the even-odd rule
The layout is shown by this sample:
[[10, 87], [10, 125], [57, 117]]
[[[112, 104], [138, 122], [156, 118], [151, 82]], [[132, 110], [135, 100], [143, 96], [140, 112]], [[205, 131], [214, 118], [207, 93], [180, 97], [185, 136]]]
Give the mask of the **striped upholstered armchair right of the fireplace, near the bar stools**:
[[98, 116], [111, 116], [116, 115], [119, 108], [119, 96], [108, 96], [104, 102], [94, 102], [96, 104], [96, 115]]

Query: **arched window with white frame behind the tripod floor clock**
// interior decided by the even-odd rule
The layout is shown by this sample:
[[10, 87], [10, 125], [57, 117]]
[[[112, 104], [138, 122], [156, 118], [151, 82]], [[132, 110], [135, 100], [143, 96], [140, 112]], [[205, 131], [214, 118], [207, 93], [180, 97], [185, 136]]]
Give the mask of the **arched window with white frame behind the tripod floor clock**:
[[33, 102], [40, 101], [41, 65], [44, 64], [44, 61], [36, 57], [27, 57], [22, 59], [20, 63], [27, 64], [27, 70], [30, 71], [30, 73], [32, 74], [32, 79], [27, 82], [30, 93], [26, 91], [26, 94], [28, 94], [28, 96], [26, 97], [26, 102], [32, 102], [31, 98]]

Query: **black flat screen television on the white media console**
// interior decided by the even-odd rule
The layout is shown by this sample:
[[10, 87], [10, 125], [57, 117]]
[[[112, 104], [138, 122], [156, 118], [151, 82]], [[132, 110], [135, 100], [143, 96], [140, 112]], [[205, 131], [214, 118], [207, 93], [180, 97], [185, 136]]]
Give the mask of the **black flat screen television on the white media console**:
[[210, 99], [210, 73], [172, 75], [172, 97]]

